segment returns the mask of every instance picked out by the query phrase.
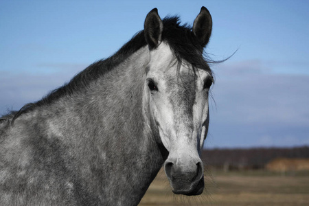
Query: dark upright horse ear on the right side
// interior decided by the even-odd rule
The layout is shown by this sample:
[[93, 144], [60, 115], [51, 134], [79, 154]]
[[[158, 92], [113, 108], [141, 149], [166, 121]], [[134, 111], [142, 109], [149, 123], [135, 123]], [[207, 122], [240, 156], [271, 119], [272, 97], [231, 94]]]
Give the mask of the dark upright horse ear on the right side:
[[201, 12], [196, 16], [193, 23], [193, 33], [200, 41], [201, 45], [205, 47], [209, 41], [212, 28], [212, 19], [209, 11], [204, 6]]

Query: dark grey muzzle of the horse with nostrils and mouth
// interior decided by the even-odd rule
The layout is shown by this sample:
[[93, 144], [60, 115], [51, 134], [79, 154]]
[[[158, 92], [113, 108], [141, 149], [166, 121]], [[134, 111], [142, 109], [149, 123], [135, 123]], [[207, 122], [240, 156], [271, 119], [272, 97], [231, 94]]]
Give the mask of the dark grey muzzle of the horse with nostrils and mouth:
[[196, 195], [203, 192], [204, 173], [201, 159], [189, 163], [168, 159], [164, 168], [175, 194]]

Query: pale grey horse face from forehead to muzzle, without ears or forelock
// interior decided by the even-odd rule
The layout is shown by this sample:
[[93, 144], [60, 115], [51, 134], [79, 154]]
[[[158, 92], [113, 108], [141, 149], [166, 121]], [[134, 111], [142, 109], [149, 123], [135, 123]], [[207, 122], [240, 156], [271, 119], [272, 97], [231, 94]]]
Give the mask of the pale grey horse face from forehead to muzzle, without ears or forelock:
[[181, 65], [179, 72], [167, 43], [150, 52], [146, 77], [149, 108], [169, 152], [165, 173], [175, 194], [201, 194], [204, 188], [201, 149], [209, 122], [207, 71]]

